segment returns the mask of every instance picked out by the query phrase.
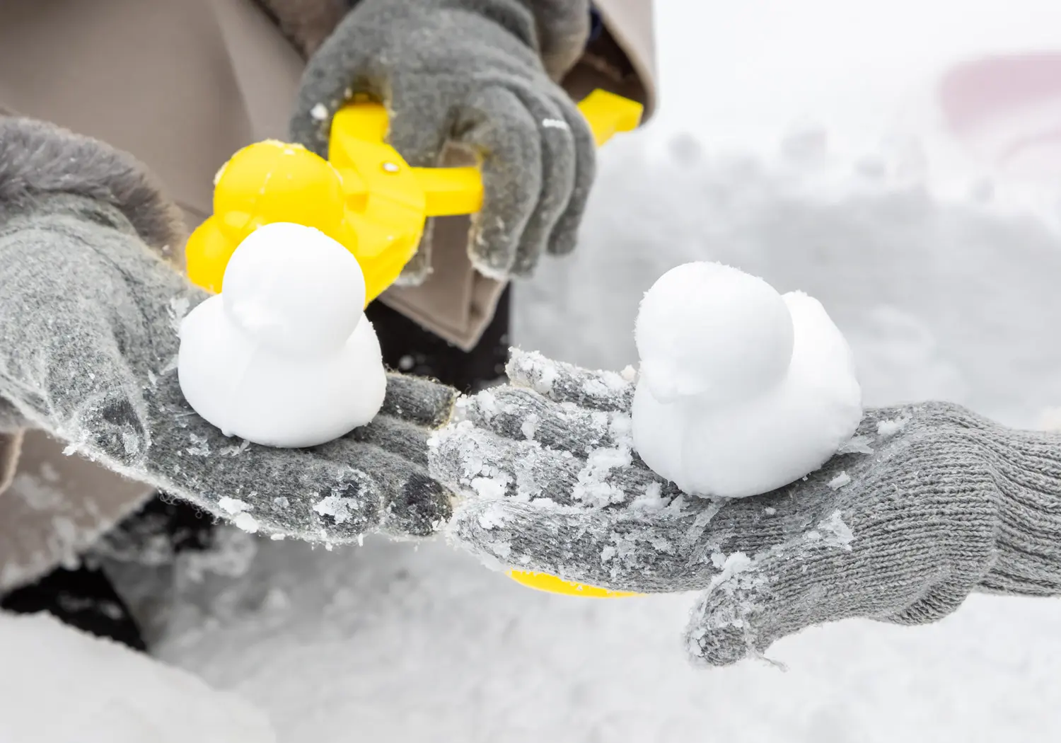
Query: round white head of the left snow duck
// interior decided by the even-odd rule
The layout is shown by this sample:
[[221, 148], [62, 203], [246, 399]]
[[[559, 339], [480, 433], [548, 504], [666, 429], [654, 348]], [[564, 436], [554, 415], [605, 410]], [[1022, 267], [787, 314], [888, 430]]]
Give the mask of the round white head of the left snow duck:
[[365, 277], [358, 259], [320, 230], [277, 222], [236, 248], [222, 295], [232, 322], [262, 343], [313, 353], [353, 332]]

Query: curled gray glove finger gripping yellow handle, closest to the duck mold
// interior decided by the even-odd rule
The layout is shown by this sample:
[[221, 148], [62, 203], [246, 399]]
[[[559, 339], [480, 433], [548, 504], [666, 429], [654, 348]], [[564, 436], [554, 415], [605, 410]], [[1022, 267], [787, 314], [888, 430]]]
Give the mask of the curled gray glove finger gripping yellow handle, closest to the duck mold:
[[505, 279], [542, 192], [539, 123], [515, 92], [488, 87], [463, 106], [456, 134], [482, 156], [483, 208], [473, 219], [469, 256], [480, 273]]

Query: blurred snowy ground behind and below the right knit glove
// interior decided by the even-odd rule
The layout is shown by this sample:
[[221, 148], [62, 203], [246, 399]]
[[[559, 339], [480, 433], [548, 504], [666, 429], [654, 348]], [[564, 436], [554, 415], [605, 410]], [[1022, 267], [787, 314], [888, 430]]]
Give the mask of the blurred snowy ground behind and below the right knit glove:
[[[516, 341], [620, 368], [641, 292], [716, 259], [821, 299], [869, 404], [1061, 426], [1061, 189], [987, 180], [926, 103], [954, 63], [1061, 51], [1061, 5], [658, 5], [659, 116], [603, 152], [581, 247], [520, 287]], [[236, 534], [225, 557], [184, 566], [161, 656], [282, 743], [1061, 740], [1061, 601], [849, 621], [777, 644], [786, 673], [703, 671], [679, 643], [690, 597], [541, 594], [443, 543]]]

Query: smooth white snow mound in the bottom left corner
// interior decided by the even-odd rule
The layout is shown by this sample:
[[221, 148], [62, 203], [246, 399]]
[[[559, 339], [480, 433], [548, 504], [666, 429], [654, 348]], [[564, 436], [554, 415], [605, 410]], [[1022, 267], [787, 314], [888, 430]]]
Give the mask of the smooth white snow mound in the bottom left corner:
[[0, 614], [4, 743], [276, 743], [265, 713], [51, 615]]

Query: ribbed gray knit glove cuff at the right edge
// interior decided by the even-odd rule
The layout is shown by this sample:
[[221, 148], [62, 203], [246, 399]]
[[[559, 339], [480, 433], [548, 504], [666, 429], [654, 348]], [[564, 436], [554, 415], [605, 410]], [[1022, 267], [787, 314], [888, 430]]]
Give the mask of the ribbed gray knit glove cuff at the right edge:
[[997, 558], [979, 589], [1061, 595], [1061, 433], [981, 436], [998, 486]]

